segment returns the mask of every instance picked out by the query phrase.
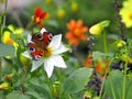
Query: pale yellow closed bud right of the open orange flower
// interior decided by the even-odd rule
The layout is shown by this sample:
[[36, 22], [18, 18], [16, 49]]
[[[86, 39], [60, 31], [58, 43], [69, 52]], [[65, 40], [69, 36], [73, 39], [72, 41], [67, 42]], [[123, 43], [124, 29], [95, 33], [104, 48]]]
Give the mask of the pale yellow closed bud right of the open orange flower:
[[89, 29], [90, 34], [99, 35], [103, 31], [103, 26], [101, 24], [95, 24]]

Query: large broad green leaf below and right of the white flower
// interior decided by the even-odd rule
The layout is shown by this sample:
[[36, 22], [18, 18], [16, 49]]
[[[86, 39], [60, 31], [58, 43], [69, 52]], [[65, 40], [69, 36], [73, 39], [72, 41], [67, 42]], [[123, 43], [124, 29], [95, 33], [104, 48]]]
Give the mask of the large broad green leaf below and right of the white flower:
[[81, 91], [89, 81], [91, 74], [91, 68], [79, 68], [75, 70], [67, 79], [65, 79], [62, 86], [61, 98], [67, 97], [68, 94]]

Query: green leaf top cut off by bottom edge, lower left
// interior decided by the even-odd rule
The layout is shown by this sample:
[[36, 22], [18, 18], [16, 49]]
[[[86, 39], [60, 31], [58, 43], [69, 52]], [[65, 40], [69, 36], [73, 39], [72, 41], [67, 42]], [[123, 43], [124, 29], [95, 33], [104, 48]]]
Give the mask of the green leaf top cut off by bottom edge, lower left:
[[30, 99], [30, 97], [18, 91], [12, 91], [6, 96], [6, 99]]

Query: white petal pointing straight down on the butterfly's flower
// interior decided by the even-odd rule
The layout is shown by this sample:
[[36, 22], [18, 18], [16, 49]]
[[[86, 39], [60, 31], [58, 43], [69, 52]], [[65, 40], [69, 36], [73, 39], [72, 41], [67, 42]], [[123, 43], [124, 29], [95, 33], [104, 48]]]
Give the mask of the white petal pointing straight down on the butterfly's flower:
[[51, 58], [44, 61], [44, 68], [45, 68], [47, 76], [50, 78], [52, 76], [53, 69], [54, 69], [54, 63], [52, 62]]

